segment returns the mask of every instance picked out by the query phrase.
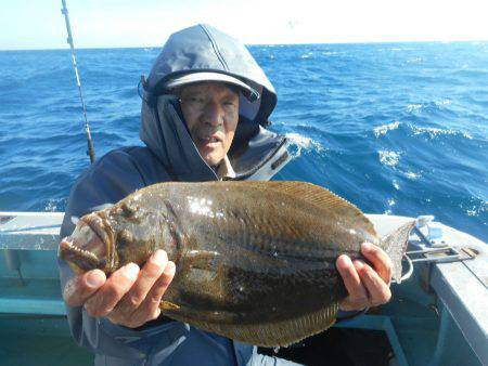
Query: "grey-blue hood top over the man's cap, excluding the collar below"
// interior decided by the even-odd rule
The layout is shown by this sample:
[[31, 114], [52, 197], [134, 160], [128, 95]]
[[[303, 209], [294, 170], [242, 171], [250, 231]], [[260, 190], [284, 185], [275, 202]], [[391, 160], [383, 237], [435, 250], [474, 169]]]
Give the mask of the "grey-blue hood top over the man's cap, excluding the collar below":
[[200, 24], [172, 34], [157, 56], [144, 89], [153, 95], [165, 94], [169, 92], [165, 84], [170, 79], [198, 71], [230, 75], [257, 90], [261, 97], [255, 103], [241, 100], [241, 114], [267, 126], [277, 105], [273, 86], [243, 43], [209, 25]]

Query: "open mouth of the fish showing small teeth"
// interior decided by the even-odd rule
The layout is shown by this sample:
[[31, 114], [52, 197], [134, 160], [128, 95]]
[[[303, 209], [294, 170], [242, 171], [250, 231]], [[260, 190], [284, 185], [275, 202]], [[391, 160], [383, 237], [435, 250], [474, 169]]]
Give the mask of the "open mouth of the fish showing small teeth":
[[77, 274], [95, 269], [106, 272], [112, 262], [110, 235], [95, 224], [100, 218], [97, 220], [92, 215], [80, 219], [73, 234], [60, 244], [59, 257], [66, 260]]

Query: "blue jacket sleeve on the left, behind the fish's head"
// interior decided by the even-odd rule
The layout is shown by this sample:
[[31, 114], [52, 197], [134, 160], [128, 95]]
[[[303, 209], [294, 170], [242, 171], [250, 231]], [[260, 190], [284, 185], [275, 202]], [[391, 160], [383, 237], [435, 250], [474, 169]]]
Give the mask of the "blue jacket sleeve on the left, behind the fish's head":
[[[78, 218], [112, 205], [146, 185], [140, 170], [123, 151], [115, 151], [85, 171], [69, 194], [61, 226], [61, 237], [69, 235]], [[69, 265], [59, 260], [62, 291], [75, 275]], [[104, 317], [90, 316], [82, 306], [66, 306], [73, 337], [79, 345], [92, 352], [129, 360], [144, 358], [153, 352], [172, 348], [181, 342], [189, 329], [170, 322], [144, 330], [112, 324]]]

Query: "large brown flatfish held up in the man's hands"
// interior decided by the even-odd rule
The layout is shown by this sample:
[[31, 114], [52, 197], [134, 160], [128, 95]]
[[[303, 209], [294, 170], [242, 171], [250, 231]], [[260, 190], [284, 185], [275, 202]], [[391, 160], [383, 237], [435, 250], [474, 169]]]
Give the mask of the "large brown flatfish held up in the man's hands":
[[[267, 347], [330, 327], [347, 296], [336, 258], [361, 258], [364, 240], [391, 244], [355, 206], [300, 182], [162, 183], [80, 222], [60, 248], [75, 270], [110, 274], [165, 249], [177, 264], [165, 315]], [[402, 233], [393, 235], [397, 251]]]

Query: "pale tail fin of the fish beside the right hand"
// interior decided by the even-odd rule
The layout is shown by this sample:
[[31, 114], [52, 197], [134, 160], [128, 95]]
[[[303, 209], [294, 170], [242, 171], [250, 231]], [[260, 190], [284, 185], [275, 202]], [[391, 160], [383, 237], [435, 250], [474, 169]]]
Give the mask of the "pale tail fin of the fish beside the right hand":
[[407, 251], [410, 232], [415, 225], [415, 221], [409, 221], [389, 233], [381, 240], [381, 247], [391, 259], [391, 277], [397, 284], [401, 283], [401, 259]]

